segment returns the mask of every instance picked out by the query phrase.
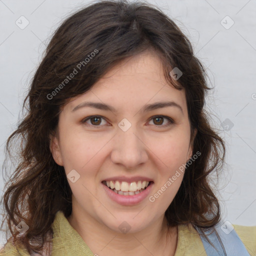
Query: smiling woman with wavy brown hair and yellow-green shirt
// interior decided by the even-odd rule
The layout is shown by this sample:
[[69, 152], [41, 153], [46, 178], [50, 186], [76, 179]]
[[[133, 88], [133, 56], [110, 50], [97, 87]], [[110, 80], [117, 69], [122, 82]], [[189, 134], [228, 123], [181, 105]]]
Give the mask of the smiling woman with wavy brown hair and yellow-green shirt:
[[222, 223], [209, 185], [225, 147], [203, 109], [208, 89], [156, 7], [100, 1], [67, 18], [7, 141], [20, 139], [21, 161], [0, 255], [254, 255], [256, 227]]

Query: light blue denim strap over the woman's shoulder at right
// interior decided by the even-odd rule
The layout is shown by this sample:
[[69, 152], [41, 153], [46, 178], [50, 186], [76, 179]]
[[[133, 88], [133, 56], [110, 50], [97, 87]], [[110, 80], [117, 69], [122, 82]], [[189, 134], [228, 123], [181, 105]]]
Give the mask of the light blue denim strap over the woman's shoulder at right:
[[[229, 231], [225, 223], [222, 224], [222, 226], [220, 226], [219, 224], [215, 226], [215, 231], [211, 234], [210, 231], [205, 232], [208, 239], [216, 247], [217, 250], [202, 235], [200, 229], [197, 229], [198, 233], [200, 234], [207, 256], [250, 256], [236, 231], [234, 229], [230, 230], [230, 222]], [[216, 232], [219, 235], [220, 240], [222, 241], [224, 249], [221, 246]]]

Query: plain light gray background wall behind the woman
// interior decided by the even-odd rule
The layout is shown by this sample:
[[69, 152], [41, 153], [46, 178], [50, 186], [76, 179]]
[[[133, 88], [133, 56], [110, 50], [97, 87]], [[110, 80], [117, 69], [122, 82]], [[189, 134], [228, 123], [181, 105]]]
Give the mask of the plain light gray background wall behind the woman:
[[[88, 2], [0, 0], [0, 164], [45, 44], [66, 15]], [[256, 225], [256, 0], [148, 2], [157, 4], [188, 36], [215, 87], [207, 98], [207, 109], [227, 145], [219, 183], [222, 218]], [[21, 15], [29, 21], [24, 29], [15, 24]], [[232, 20], [226, 15], [234, 22], [228, 29]], [[233, 127], [226, 121], [221, 125], [226, 118]]]

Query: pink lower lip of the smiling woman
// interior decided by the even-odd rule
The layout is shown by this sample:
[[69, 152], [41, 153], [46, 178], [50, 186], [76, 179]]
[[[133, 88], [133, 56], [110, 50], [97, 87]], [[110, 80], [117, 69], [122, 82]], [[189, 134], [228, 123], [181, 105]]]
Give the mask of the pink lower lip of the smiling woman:
[[101, 183], [101, 185], [103, 186], [103, 188], [106, 191], [106, 194], [115, 202], [121, 204], [121, 205], [134, 205], [137, 204], [139, 202], [141, 202], [143, 199], [145, 199], [145, 197], [149, 194], [153, 183], [150, 183], [145, 190], [141, 191], [138, 194], [134, 194], [134, 195], [121, 195], [121, 194], [117, 194], [115, 193], [112, 189], [108, 188], [106, 185], [104, 185], [103, 183]]

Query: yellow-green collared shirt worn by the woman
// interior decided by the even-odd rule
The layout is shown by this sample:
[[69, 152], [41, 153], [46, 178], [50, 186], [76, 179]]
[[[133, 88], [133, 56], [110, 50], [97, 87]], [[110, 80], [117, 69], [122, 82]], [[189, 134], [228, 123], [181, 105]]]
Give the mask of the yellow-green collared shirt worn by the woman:
[[[256, 226], [233, 226], [249, 254], [256, 256]], [[51, 256], [94, 256], [61, 211], [56, 213], [52, 229]], [[195, 255], [207, 256], [198, 232], [190, 224], [178, 225], [177, 247], [174, 256]], [[29, 256], [29, 254], [25, 249], [16, 248], [8, 242], [4, 251], [0, 252], [0, 256]]]

